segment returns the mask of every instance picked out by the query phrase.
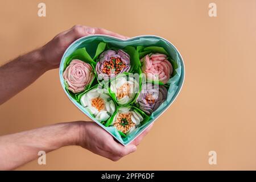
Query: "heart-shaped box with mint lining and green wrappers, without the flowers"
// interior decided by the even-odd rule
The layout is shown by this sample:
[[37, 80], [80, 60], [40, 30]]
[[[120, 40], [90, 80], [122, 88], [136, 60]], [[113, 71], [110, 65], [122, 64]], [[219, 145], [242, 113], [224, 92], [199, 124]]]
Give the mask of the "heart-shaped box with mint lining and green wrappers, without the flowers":
[[[114, 113], [112, 113], [113, 115], [106, 122], [98, 121], [95, 118], [95, 115], [90, 113], [88, 109], [86, 109], [80, 102], [82, 95], [95, 88], [96, 85], [102, 84], [97, 77], [95, 68], [97, 61], [99, 61], [98, 57], [100, 54], [108, 49], [123, 49], [126, 53], [129, 54], [131, 60], [131, 69], [129, 72], [135, 72], [134, 70], [140, 69], [142, 67], [142, 63], [139, 60], [147, 54], [151, 53], [163, 53], [167, 55], [168, 60], [170, 60], [173, 68], [171, 78], [167, 83], [163, 84], [160, 81], [158, 82], [159, 85], [164, 85], [164, 87], [168, 90], [166, 100], [161, 102], [158, 109], [153, 111], [151, 114], [145, 114], [142, 110], [137, 108], [138, 104], [136, 104], [136, 99], [134, 99], [134, 101], [129, 104], [131, 105], [128, 106], [130, 109], [134, 109], [135, 113], [141, 114], [143, 122], [141, 122], [141, 124], [138, 125], [136, 129], [127, 135], [121, 133], [117, 130], [117, 127], [111, 125], [112, 123], [110, 118], [113, 119], [113, 116], [117, 114], [117, 111], [120, 108], [115, 98], [113, 98], [113, 101], [115, 103], [116, 110]], [[85, 90], [81, 91], [80, 93], [73, 93], [70, 89], [67, 89], [68, 84], [63, 76], [65, 69], [74, 59], [79, 59], [92, 65], [94, 72], [94, 78], [88, 85], [85, 86]], [[69, 100], [71, 100], [73, 104], [82, 111], [82, 113], [86, 114], [103, 129], [108, 131], [108, 133], [112, 134], [113, 137], [117, 139], [121, 144], [126, 146], [136, 137], [138, 137], [138, 135], [141, 134], [152, 122], [154, 122], [164, 111], [166, 111], [168, 107], [171, 106], [183, 85], [185, 69], [183, 59], [179, 51], [177, 51], [175, 46], [168, 40], [160, 38], [159, 36], [142, 35], [123, 40], [108, 35], [90, 35], [76, 40], [67, 48], [61, 59], [59, 74], [61, 85]], [[129, 75], [129, 73], [126, 75]], [[141, 81], [143, 79], [139, 80], [139, 92], [141, 92]], [[106, 86], [106, 84], [102, 85]], [[109, 95], [113, 97], [113, 94], [109, 93]]]

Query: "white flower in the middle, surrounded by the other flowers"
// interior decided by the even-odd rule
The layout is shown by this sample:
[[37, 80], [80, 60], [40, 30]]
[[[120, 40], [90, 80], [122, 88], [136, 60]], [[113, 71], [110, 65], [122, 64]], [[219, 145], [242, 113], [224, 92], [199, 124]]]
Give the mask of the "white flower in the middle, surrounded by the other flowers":
[[129, 104], [139, 91], [139, 84], [134, 77], [121, 76], [110, 83], [110, 92], [115, 94], [119, 105]]

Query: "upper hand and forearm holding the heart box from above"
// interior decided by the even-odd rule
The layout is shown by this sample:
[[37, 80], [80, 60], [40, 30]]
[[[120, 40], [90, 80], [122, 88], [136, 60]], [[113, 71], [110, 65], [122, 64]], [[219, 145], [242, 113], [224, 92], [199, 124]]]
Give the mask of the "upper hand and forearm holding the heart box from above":
[[49, 69], [58, 68], [65, 49], [76, 39], [86, 35], [111, 35], [126, 39], [103, 28], [76, 25], [70, 30], [56, 35], [42, 48], [10, 61], [0, 67], [0, 105], [32, 84]]

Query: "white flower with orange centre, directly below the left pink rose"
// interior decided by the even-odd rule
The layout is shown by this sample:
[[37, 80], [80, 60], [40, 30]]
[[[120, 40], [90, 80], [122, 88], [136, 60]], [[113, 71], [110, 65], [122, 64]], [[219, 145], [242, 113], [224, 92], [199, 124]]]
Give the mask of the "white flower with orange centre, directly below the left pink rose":
[[80, 98], [80, 103], [98, 121], [106, 121], [115, 111], [115, 104], [106, 89], [94, 88]]

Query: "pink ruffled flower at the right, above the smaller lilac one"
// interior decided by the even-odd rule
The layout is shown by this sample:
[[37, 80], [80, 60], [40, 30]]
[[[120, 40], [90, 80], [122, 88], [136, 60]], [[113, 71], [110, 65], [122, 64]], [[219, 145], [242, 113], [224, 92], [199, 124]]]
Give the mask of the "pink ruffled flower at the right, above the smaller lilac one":
[[141, 63], [142, 72], [146, 74], [148, 80], [159, 80], [166, 84], [172, 75], [172, 65], [162, 53], [146, 55], [141, 59]]

